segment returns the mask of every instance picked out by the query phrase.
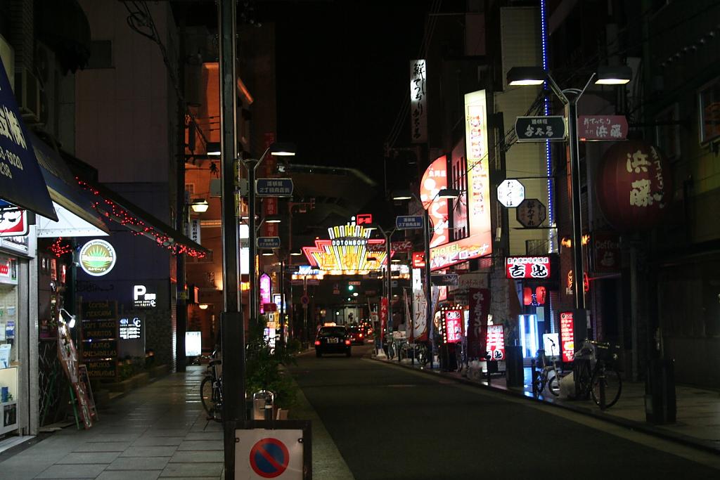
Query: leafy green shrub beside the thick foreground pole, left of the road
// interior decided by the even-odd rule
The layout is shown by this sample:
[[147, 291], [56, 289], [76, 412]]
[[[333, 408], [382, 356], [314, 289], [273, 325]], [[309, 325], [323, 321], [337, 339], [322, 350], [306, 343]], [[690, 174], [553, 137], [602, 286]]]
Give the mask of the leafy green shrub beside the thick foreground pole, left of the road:
[[275, 405], [288, 409], [295, 402], [297, 386], [281, 367], [294, 365], [297, 343], [277, 343], [272, 351], [264, 337], [264, 329], [263, 317], [251, 319], [245, 353], [246, 391], [252, 395], [260, 390], [269, 390], [275, 394]]

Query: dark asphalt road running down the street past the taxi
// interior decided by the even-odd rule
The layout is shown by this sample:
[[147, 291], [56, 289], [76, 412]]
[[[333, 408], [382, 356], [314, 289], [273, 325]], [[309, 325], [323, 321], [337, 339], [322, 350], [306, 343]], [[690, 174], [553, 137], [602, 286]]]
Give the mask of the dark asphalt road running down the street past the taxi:
[[291, 371], [356, 479], [720, 478], [711, 453], [353, 350]]

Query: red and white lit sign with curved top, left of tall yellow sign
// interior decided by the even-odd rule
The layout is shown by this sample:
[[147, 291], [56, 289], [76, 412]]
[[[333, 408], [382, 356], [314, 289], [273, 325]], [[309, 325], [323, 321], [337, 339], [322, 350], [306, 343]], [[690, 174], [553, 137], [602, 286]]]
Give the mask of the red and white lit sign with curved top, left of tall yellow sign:
[[430, 248], [448, 243], [449, 240], [448, 201], [437, 198], [439, 191], [448, 188], [447, 174], [447, 158], [443, 155], [430, 164], [420, 182], [420, 200], [428, 210], [428, 216], [433, 225]]

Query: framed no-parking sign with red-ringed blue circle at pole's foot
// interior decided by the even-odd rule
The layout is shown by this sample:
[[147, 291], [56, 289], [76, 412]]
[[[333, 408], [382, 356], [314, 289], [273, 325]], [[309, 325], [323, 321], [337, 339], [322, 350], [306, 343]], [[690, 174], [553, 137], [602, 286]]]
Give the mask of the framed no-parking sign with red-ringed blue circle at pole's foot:
[[235, 480], [312, 478], [310, 422], [250, 420], [241, 425], [245, 428], [235, 430]]

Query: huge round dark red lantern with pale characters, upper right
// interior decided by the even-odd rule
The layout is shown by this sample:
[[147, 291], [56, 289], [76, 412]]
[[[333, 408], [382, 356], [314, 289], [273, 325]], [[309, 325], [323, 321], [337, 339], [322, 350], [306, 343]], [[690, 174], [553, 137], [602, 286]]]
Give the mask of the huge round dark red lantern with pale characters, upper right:
[[617, 142], [600, 162], [600, 209], [616, 230], [648, 230], [667, 212], [671, 180], [667, 160], [657, 147], [641, 140]]

